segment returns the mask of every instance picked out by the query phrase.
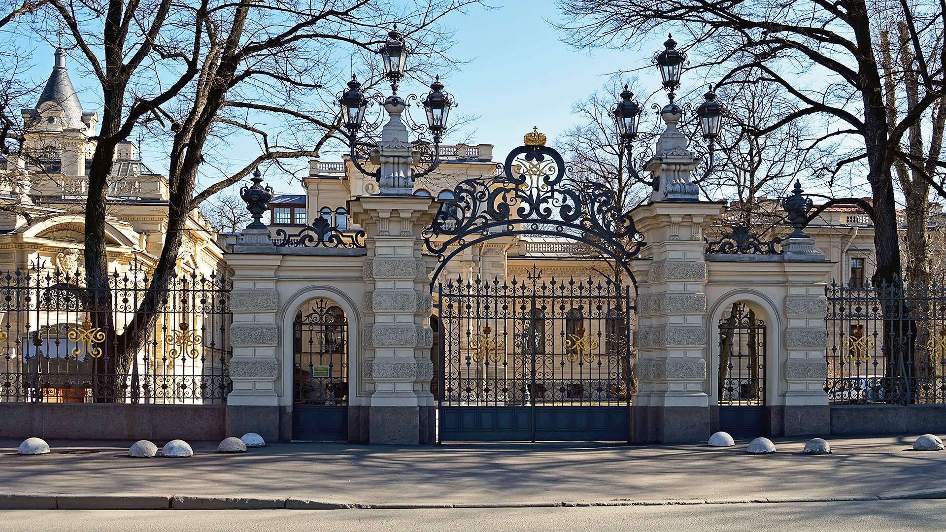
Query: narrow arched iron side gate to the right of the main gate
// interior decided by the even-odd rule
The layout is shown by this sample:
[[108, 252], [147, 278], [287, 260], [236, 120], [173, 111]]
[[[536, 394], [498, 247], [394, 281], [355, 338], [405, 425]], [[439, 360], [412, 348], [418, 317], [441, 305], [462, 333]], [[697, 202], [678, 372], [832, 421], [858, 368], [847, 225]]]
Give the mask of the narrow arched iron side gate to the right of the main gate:
[[719, 423], [733, 435], [765, 427], [765, 322], [745, 304], [719, 322]]

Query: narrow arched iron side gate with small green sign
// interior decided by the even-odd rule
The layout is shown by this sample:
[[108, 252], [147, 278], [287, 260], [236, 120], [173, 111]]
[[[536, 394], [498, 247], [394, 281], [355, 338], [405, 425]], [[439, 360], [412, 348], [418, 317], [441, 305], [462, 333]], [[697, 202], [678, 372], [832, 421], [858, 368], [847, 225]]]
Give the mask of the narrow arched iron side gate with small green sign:
[[292, 439], [348, 439], [348, 320], [319, 299], [296, 314], [292, 334]]

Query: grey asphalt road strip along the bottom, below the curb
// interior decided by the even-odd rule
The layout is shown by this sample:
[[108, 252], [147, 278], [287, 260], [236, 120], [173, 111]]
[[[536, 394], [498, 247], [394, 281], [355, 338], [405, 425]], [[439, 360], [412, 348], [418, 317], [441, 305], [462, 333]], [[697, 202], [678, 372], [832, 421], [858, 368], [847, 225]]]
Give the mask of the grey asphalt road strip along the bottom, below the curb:
[[6, 510], [6, 532], [168, 530], [295, 532], [497, 532], [582, 530], [727, 532], [941, 530], [946, 500], [741, 505], [434, 510]]

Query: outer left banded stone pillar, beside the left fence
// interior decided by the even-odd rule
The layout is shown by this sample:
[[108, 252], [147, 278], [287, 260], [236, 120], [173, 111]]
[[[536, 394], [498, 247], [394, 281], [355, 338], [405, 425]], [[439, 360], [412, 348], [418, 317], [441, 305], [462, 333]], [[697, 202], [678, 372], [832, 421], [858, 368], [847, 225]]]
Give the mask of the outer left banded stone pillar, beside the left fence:
[[233, 391], [227, 396], [227, 434], [253, 432], [267, 440], [289, 439], [290, 434], [280, 434], [281, 412], [276, 395], [279, 294], [275, 271], [282, 256], [239, 253], [241, 247], [237, 244], [235, 253], [227, 256], [234, 270], [230, 297], [234, 319], [230, 328]]

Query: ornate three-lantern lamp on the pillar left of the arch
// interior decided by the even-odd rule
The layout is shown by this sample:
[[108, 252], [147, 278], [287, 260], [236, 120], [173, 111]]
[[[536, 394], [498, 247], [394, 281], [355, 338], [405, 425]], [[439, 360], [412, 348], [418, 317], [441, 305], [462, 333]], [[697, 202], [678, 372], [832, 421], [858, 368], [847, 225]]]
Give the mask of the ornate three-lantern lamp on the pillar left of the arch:
[[[430, 91], [420, 101], [427, 118], [426, 124], [405, 124], [402, 115], [408, 110], [408, 102], [419, 99], [416, 95], [409, 95], [406, 99], [397, 95], [397, 87], [404, 79], [405, 67], [409, 50], [404, 41], [404, 34], [395, 26], [388, 33], [388, 39], [378, 50], [384, 66], [385, 77], [391, 83], [391, 96], [384, 98], [381, 105], [390, 117], [381, 129], [381, 139], [377, 148], [370, 149], [371, 161], [377, 164], [375, 171], [368, 171], [361, 166], [358, 155], [359, 132], [364, 127], [364, 114], [369, 98], [361, 90], [361, 84], [352, 75], [348, 81], [348, 89], [342, 91], [339, 105], [342, 109], [342, 126], [344, 127], [352, 164], [361, 173], [372, 176], [380, 186], [381, 194], [410, 195], [413, 191], [414, 179], [429, 174], [440, 166], [440, 142], [447, 129], [447, 117], [450, 108], [454, 105], [453, 98], [444, 90], [444, 84], [438, 76], [430, 83]], [[379, 98], [378, 98], [379, 99]], [[408, 138], [408, 128], [415, 133], [429, 131], [433, 137], [433, 160], [427, 169], [415, 173], [412, 169], [417, 151], [412, 148]]]

